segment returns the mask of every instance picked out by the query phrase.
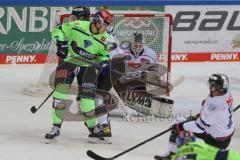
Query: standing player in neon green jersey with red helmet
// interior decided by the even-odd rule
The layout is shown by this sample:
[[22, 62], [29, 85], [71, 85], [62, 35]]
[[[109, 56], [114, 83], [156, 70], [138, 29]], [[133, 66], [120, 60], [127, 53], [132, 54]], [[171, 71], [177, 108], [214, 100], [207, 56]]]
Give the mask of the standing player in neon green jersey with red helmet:
[[85, 124], [91, 132], [89, 138], [105, 142], [104, 137], [109, 136], [99, 126], [95, 114], [95, 92], [101, 69], [85, 63], [84, 59], [94, 63], [108, 60], [110, 36], [106, 30], [111, 21], [109, 12], [97, 12], [91, 22], [75, 20], [53, 28], [52, 38], [57, 44], [62, 44], [62, 47], [58, 47], [58, 52], [63, 53], [65, 57], [56, 70], [52, 109], [53, 128], [45, 135], [46, 139], [54, 139], [60, 135], [70, 89], [69, 75], [77, 66], [80, 66], [78, 76], [82, 81], [79, 87], [79, 103], [81, 112], [85, 116]]

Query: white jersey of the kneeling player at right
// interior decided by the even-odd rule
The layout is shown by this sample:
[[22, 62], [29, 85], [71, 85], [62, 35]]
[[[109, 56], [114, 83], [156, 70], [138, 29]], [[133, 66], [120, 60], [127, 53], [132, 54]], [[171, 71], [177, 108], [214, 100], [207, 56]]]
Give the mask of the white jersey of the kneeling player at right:
[[202, 105], [200, 117], [196, 121], [184, 123], [186, 131], [206, 132], [214, 138], [223, 138], [234, 132], [232, 119], [233, 98], [230, 91], [222, 96], [208, 96]]

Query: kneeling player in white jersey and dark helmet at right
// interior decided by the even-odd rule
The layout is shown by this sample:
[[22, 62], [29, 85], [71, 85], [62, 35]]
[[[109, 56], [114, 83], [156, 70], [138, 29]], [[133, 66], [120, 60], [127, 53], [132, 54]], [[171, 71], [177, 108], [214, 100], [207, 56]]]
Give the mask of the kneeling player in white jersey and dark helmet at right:
[[229, 143], [234, 133], [232, 120], [233, 98], [229, 90], [229, 81], [224, 74], [212, 74], [208, 80], [210, 94], [203, 101], [200, 114], [192, 121], [173, 125], [169, 139], [169, 151], [156, 160], [170, 160], [176, 152], [176, 139], [181, 132], [193, 132], [205, 143], [220, 148], [223, 152], [229, 149]]

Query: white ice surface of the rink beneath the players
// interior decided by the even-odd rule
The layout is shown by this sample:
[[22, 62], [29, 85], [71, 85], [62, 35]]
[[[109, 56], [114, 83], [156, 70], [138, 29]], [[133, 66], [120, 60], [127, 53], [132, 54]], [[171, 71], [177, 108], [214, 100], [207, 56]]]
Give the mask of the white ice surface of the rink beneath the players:
[[[39, 105], [44, 97], [29, 97], [22, 93], [24, 87], [35, 82], [42, 65], [0, 66], [0, 159], [1, 160], [90, 160], [86, 151], [112, 157], [148, 139], [171, 124], [167, 120], [132, 119], [126, 122], [112, 119], [112, 144], [89, 144], [88, 131], [83, 122], [64, 122], [57, 143], [45, 144], [44, 135], [51, 128], [51, 99], [36, 113], [32, 105]], [[212, 73], [225, 73], [231, 82], [234, 106], [240, 103], [239, 62], [221, 63], [173, 63], [171, 79], [185, 76], [185, 81], [174, 88], [171, 99], [175, 101], [175, 114], [198, 113], [203, 98], [208, 94], [207, 79]], [[240, 110], [234, 117], [240, 116]], [[240, 119], [240, 118], [239, 118]], [[140, 122], [139, 122], [140, 121]], [[240, 122], [237, 122], [240, 128]], [[238, 132], [238, 133], [237, 133]], [[231, 147], [240, 151], [239, 130], [232, 139]], [[155, 154], [167, 149], [168, 135], [161, 136], [117, 158], [119, 160], [150, 160]]]

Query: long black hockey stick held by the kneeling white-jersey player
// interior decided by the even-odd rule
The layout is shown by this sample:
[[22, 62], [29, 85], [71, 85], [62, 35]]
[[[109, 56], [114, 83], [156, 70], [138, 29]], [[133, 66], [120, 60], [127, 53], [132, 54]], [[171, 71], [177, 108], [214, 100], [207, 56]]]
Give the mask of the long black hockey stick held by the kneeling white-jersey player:
[[[240, 104], [233, 109], [233, 112], [230, 115], [232, 115], [234, 112], [236, 112], [239, 108], [240, 108]], [[135, 146], [133, 146], [133, 147], [131, 147], [131, 148], [129, 148], [129, 149], [127, 149], [127, 150], [125, 150], [125, 151], [115, 155], [115, 156], [113, 156], [113, 157], [110, 157], [110, 158], [104, 158], [104, 157], [96, 154], [95, 152], [93, 152], [91, 150], [87, 151], [87, 155], [89, 157], [91, 157], [92, 159], [94, 159], [94, 160], [114, 160], [114, 159], [116, 159], [116, 158], [118, 158], [118, 157], [120, 157], [120, 156], [122, 156], [122, 155], [124, 155], [124, 154], [126, 154], [126, 153], [128, 153], [128, 152], [130, 152], [130, 151], [132, 151], [132, 150], [134, 150], [134, 149], [136, 149], [138, 147], [140, 147], [141, 145], [143, 145], [143, 144], [145, 144], [145, 143], [147, 143], [147, 142], [149, 142], [151, 140], [154, 140], [157, 137], [160, 137], [160, 136], [164, 135], [165, 133], [167, 133], [167, 132], [169, 132], [171, 130], [172, 130], [172, 128], [168, 128], [168, 129], [162, 131], [161, 133], [159, 133], [159, 134], [157, 134], [157, 135], [155, 135], [155, 136], [153, 136], [153, 137], [151, 137], [151, 138], [149, 138], [149, 139], [147, 139], [147, 140], [145, 140], [145, 141], [143, 141], [143, 142], [141, 142], [141, 143], [139, 143], [139, 144], [137, 144], [137, 145], [135, 145]]]

